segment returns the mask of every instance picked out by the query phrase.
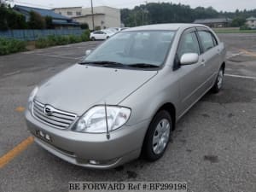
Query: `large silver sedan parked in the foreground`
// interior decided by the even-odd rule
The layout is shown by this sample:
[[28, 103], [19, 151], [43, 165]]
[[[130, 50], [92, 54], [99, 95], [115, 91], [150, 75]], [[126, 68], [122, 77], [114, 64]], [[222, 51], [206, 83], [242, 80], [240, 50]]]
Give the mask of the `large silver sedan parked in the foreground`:
[[35, 141], [78, 166], [160, 159], [177, 120], [223, 85], [224, 44], [207, 26], [134, 27], [86, 53], [38, 85], [26, 109]]

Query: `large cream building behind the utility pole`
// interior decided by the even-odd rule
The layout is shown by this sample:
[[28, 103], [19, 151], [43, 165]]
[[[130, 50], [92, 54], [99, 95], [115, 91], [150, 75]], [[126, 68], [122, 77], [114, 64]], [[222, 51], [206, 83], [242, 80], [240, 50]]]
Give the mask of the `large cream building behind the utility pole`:
[[[72, 7], [72, 8], [55, 8], [55, 13], [65, 15], [79, 22], [80, 24], [87, 23], [90, 30], [92, 26], [92, 15], [90, 8]], [[99, 6], [93, 8], [94, 26], [95, 28], [108, 28], [121, 26], [120, 9], [111, 8], [108, 6]]]

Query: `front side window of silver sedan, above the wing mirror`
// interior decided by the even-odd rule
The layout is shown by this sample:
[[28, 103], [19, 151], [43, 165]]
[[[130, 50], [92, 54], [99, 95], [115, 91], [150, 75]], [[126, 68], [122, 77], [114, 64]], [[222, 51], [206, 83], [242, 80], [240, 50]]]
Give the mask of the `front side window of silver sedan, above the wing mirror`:
[[177, 49], [177, 56], [180, 60], [183, 54], [196, 53], [200, 55], [200, 47], [195, 32], [184, 33], [180, 39]]

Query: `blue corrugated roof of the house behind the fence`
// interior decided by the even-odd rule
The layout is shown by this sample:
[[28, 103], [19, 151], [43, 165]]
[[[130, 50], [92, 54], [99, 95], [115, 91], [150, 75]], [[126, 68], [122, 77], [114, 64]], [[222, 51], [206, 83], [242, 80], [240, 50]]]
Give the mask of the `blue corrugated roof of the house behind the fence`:
[[32, 8], [32, 7], [26, 7], [23, 5], [15, 5], [14, 7], [15, 10], [22, 10], [25, 11], [27, 13], [34, 11], [37, 12], [39, 15], [41, 16], [51, 16], [53, 19], [59, 19], [59, 20], [71, 20], [70, 18], [63, 16], [63, 15], [59, 15], [56, 14], [54, 11], [49, 10], [49, 9], [39, 9], [39, 8]]

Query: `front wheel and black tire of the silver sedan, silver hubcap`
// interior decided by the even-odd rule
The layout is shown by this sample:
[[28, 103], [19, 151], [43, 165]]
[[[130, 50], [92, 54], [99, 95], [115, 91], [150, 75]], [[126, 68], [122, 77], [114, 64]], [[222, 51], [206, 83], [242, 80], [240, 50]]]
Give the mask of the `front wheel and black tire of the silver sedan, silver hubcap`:
[[172, 117], [166, 110], [156, 113], [152, 119], [143, 143], [143, 157], [159, 160], [165, 153], [172, 134]]

